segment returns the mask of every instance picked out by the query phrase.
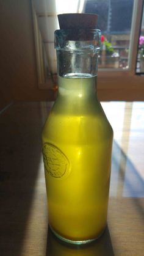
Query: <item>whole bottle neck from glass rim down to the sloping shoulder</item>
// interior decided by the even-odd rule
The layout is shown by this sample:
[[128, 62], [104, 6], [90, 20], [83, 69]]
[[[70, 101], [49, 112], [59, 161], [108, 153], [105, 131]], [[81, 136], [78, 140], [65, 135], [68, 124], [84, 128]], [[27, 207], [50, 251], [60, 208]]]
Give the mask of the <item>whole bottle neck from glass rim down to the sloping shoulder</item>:
[[98, 29], [55, 31], [59, 95], [69, 100], [95, 95], [100, 37]]

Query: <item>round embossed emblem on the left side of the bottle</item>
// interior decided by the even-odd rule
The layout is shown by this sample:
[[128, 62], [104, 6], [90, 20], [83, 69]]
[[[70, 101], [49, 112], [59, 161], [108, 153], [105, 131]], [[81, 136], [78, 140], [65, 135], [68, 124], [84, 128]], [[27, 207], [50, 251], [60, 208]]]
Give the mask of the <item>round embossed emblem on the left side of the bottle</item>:
[[43, 161], [45, 170], [55, 178], [68, 175], [70, 163], [67, 156], [55, 145], [45, 143], [43, 145]]

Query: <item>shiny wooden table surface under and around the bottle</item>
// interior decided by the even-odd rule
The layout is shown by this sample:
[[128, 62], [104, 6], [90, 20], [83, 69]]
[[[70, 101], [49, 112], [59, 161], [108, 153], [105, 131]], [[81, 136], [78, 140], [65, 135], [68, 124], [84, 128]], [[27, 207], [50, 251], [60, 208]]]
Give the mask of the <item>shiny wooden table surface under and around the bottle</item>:
[[108, 225], [88, 246], [68, 246], [48, 231], [41, 130], [51, 103], [1, 112], [1, 256], [144, 255], [144, 103], [102, 105], [114, 131]]

